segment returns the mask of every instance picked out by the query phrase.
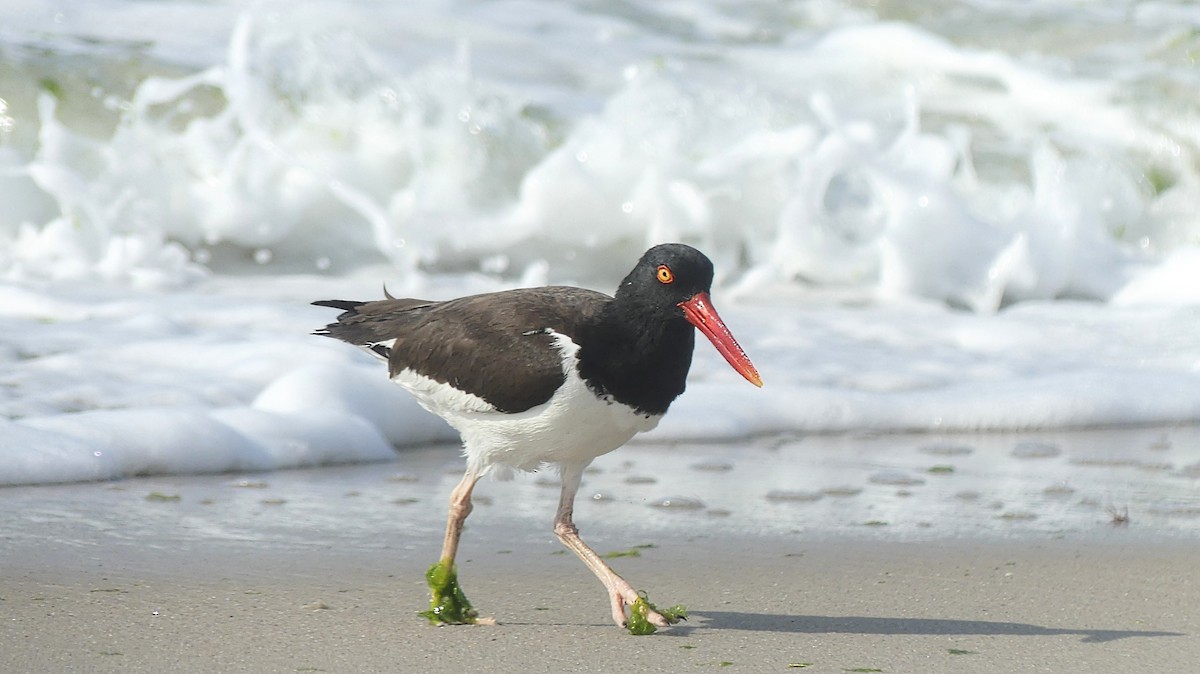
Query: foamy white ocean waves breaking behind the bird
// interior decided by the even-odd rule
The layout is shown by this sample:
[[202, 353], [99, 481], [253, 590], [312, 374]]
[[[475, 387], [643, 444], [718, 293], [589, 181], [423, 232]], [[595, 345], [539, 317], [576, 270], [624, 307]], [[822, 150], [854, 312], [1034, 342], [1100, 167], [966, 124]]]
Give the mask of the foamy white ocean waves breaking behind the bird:
[[452, 443], [308, 302], [667, 240], [766, 387], [653, 443], [1200, 421], [1190, 4], [78, 5], [0, 7], [0, 485]]

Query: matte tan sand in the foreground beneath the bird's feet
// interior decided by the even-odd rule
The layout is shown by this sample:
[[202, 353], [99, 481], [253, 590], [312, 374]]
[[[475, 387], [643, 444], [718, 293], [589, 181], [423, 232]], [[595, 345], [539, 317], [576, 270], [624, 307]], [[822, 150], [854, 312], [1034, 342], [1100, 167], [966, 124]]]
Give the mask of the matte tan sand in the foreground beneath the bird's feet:
[[180, 574], [48, 559], [5, 571], [2, 667], [1187, 672], [1200, 658], [1194, 550], [1171, 546], [672, 543], [617, 560], [652, 598], [691, 610], [650, 637], [606, 624], [600, 585], [574, 560], [478, 548], [463, 583], [497, 626], [422, 624], [421, 568], [408, 559], [248, 554]]

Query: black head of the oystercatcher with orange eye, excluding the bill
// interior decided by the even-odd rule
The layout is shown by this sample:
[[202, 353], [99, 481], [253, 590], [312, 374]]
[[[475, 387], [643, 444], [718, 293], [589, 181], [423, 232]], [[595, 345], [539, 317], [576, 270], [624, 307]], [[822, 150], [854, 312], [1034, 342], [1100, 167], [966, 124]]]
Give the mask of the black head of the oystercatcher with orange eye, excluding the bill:
[[683, 318], [679, 303], [713, 285], [713, 263], [691, 246], [661, 243], [646, 251], [617, 288], [617, 300]]

